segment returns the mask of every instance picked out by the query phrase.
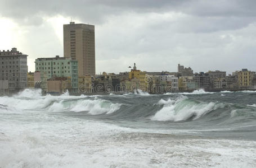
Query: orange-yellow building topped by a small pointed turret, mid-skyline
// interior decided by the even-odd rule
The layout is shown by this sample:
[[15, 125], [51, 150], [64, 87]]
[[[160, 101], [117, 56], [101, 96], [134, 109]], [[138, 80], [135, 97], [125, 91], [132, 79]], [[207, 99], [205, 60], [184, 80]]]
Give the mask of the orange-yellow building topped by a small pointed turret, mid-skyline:
[[129, 80], [132, 79], [140, 80], [140, 90], [149, 91], [148, 83], [146, 81], [146, 72], [137, 70], [135, 63], [133, 69], [131, 69], [131, 72], [129, 72]]

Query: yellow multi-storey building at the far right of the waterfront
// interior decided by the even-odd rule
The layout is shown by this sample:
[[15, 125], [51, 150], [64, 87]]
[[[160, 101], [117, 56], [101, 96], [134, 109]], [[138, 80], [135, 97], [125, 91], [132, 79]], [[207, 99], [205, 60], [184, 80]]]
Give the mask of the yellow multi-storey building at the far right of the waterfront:
[[253, 86], [253, 77], [255, 72], [248, 71], [248, 69], [242, 69], [237, 73], [239, 88], [250, 88]]

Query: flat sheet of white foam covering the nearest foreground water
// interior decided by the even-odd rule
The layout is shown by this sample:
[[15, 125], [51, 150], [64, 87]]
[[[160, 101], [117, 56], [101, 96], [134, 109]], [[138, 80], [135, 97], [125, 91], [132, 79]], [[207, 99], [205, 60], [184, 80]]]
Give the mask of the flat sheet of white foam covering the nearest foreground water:
[[256, 166], [255, 141], [175, 138], [77, 118], [45, 122], [0, 123], [1, 167]]

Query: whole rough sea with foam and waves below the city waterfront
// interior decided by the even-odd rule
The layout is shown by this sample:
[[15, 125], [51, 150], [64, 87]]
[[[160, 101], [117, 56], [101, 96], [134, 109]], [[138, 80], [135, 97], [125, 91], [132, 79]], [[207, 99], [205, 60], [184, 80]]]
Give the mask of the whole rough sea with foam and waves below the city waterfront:
[[0, 97], [0, 167], [255, 167], [241, 94]]

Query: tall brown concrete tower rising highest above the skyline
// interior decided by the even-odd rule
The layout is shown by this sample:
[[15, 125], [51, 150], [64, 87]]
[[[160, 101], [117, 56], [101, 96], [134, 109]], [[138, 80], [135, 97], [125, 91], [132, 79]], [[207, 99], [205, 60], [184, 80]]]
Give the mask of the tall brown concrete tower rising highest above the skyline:
[[63, 25], [64, 57], [78, 61], [78, 76], [95, 76], [95, 26]]

